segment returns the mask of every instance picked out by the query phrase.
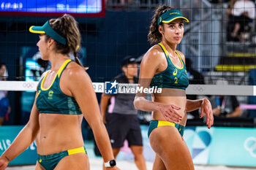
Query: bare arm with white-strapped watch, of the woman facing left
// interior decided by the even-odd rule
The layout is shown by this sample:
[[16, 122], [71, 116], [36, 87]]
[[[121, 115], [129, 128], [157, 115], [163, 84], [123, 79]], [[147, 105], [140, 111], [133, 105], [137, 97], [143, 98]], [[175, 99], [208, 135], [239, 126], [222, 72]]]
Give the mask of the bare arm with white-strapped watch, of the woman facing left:
[[[83, 116], [86, 118], [86, 121], [89, 123], [94, 133], [95, 141], [102, 154], [103, 160], [105, 162], [113, 160], [114, 156], [110, 139], [102, 121], [99, 104], [89, 75], [79, 66], [79, 68], [77, 67], [72, 69], [72, 71], [70, 70], [65, 80], [67, 81], [64, 83], [78, 102]], [[117, 169], [117, 167], [112, 169]]]

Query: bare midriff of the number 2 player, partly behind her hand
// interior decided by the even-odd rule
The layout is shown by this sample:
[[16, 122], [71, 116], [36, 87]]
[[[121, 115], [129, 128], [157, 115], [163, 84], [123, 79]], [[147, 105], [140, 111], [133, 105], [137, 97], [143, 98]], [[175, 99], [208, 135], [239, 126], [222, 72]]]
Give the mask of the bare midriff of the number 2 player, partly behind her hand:
[[[181, 109], [175, 111], [181, 115], [181, 121], [178, 122], [180, 125], [186, 125], [187, 122], [187, 112], [186, 112], [186, 104], [187, 97], [186, 91], [177, 88], [162, 88], [162, 93], [154, 94], [154, 101], [162, 103], [162, 104], [173, 104], [176, 107]], [[165, 117], [161, 112], [155, 111], [152, 114], [152, 120], [165, 120]], [[165, 120], [166, 121], [166, 120]]]

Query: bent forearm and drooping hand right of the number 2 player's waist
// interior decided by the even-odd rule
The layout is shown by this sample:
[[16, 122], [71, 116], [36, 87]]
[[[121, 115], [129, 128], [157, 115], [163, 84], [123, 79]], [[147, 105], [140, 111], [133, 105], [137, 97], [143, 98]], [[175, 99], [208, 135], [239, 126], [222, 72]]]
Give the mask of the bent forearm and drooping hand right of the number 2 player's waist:
[[201, 109], [200, 118], [206, 116], [206, 125], [208, 125], [208, 128], [211, 128], [211, 125], [214, 124], [214, 116], [211, 108], [211, 102], [207, 98], [198, 100], [187, 99], [186, 112], [191, 112], [199, 108]]

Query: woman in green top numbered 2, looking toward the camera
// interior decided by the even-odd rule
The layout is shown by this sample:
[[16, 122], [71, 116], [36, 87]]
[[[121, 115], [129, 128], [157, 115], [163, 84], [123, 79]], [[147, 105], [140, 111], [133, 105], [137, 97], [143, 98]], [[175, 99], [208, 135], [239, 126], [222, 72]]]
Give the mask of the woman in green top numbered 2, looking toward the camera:
[[184, 54], [176, 50], [184, 34], [184, 21], [189, 22], [176, 9], [169, 6], [157, 8], [148, 40], [151, 47], [140, 64], [140, 88], [162, 88], [162, 93], [154, 93], [154, 100], [146, 100], [146, 93], [137, 93], [135, 108], [152, 111], [148, 129], [149, 141], [156, 157], [154, 170], [194, 169], [187, 144], [183, 139], [187, 112], [201, 109], [200, 117], [206, 115], [208, 128], [214, 118], [208, 99], [187, 100], [189, 85]]

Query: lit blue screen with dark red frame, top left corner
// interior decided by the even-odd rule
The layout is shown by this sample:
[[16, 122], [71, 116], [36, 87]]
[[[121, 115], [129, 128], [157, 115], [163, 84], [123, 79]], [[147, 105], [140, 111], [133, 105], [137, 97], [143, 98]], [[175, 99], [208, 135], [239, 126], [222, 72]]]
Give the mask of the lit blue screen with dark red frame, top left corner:
[[0, 15], [105, 17], [105, 0], [1, 0]]

